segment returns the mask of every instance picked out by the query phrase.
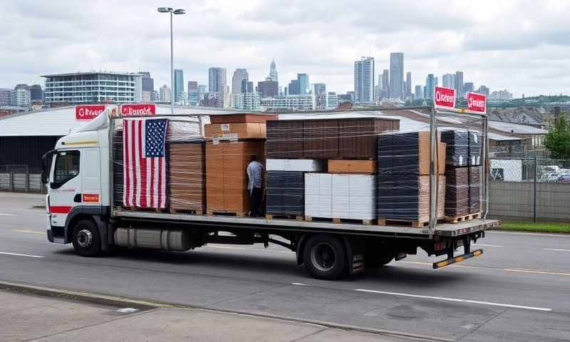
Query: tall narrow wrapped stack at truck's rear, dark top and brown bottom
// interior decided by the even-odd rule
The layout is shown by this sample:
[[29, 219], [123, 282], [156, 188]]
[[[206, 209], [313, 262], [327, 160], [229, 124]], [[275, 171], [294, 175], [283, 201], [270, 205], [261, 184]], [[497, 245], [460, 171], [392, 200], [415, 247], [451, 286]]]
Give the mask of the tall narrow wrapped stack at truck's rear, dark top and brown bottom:
[[446, 130], [441, 140], [445, 153], [445, 217], [469, 214], [469, 134], [467, 130]]

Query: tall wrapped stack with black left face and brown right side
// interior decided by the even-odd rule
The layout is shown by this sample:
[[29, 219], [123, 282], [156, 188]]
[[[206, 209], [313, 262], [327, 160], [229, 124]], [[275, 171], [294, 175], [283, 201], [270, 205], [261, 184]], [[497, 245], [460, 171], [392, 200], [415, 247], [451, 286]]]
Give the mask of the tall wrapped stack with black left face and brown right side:
[[[438, 143], [437, 217], [443, 217], [445, 146]], [[427, 222], [430, 215], [430, 133], [378, 137], [379, 219]]]

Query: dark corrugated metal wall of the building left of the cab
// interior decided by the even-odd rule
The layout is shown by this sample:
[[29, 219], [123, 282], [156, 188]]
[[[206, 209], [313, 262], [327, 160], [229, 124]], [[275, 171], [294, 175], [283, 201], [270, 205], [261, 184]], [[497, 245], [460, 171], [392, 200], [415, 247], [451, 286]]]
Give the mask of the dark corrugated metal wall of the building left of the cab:
[[60, 137], [0, 137], [0, 165], [28, 165], [41, 172], [41, 156], [52, 150]]

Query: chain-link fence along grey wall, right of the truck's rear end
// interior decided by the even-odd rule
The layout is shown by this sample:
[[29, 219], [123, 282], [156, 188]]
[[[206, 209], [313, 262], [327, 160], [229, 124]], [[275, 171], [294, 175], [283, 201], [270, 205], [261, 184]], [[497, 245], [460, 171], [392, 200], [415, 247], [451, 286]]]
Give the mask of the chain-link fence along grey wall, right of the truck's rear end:
[[570, 160], [491, 158], [489, 214], [570, 221]]

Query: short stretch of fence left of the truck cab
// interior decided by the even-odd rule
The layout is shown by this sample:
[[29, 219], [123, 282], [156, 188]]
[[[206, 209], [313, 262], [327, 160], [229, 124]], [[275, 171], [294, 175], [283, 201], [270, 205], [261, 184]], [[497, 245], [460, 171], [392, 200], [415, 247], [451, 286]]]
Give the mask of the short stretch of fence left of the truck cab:
[[28, 165], [0, 165], [0, 191], [46, 193], [41, 175], [30, 173]]

